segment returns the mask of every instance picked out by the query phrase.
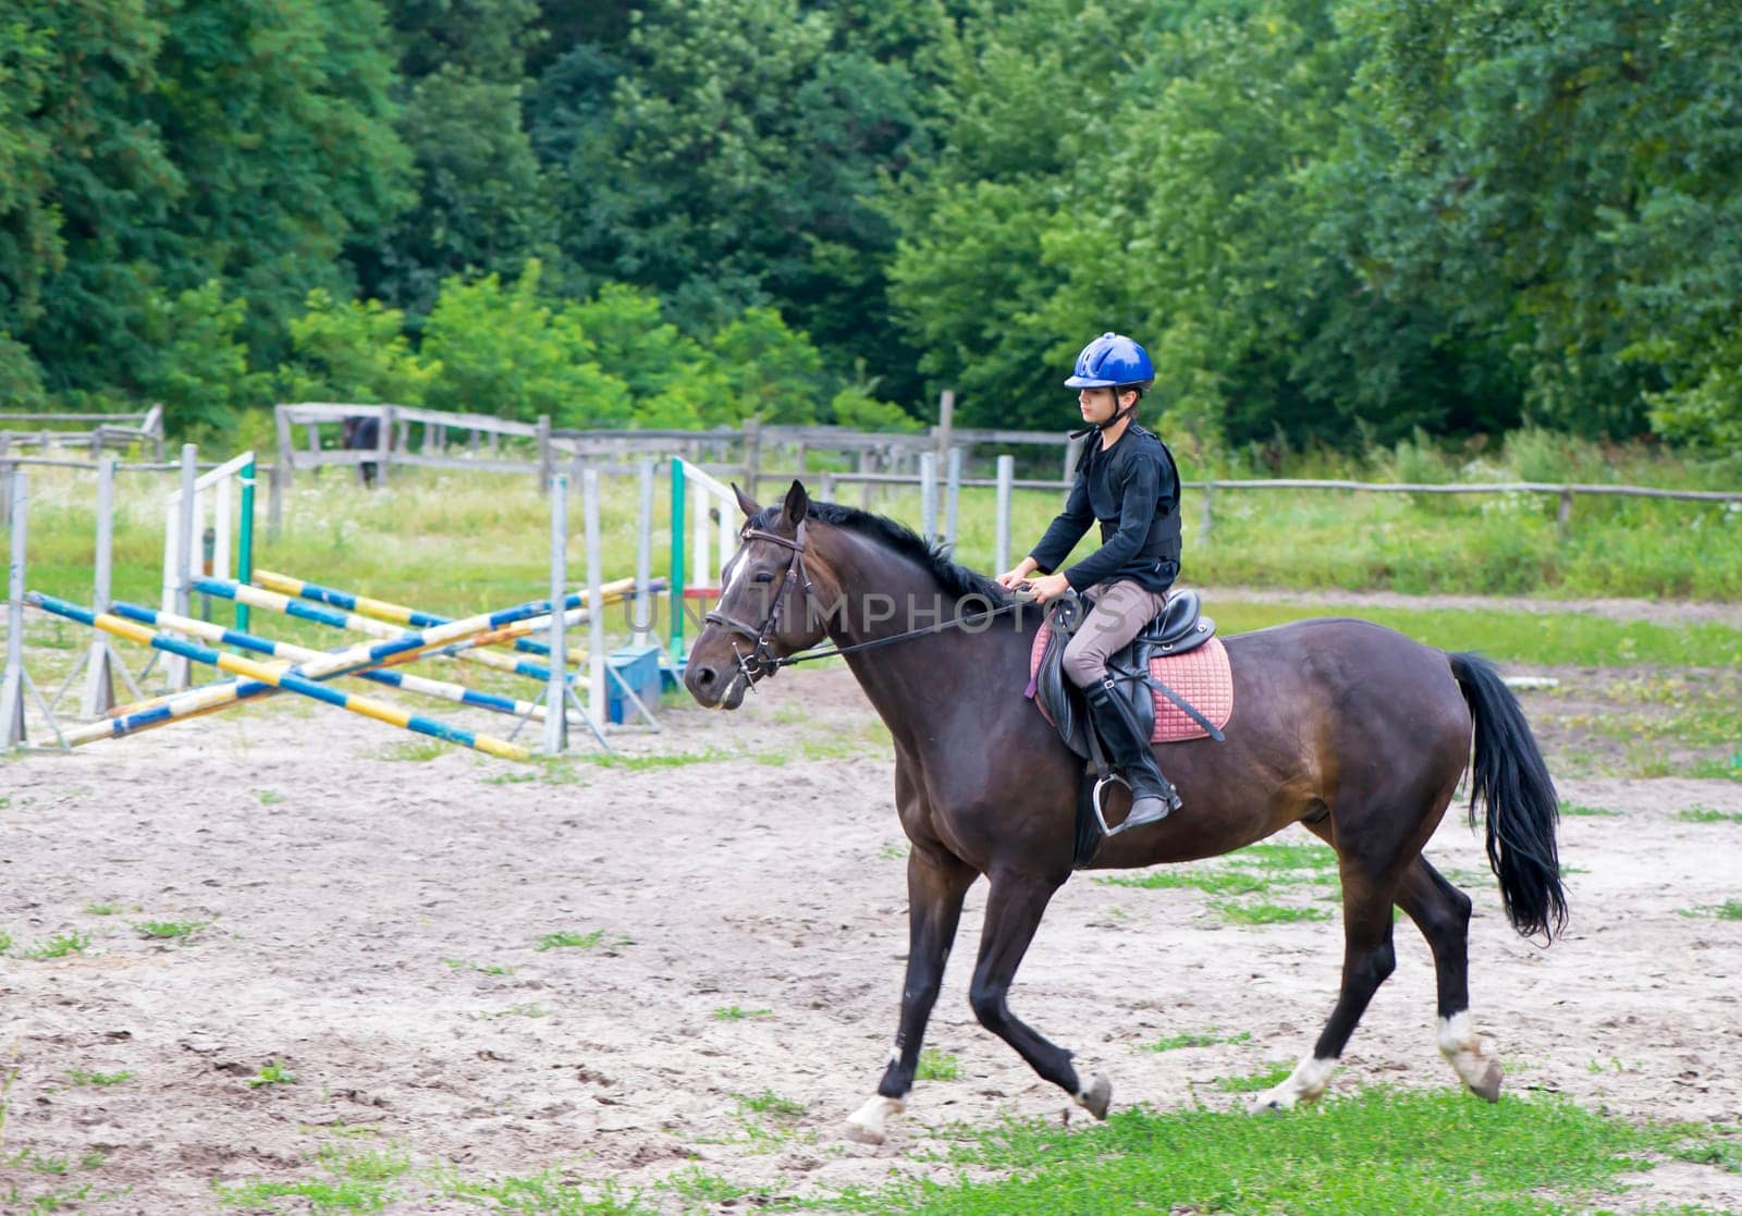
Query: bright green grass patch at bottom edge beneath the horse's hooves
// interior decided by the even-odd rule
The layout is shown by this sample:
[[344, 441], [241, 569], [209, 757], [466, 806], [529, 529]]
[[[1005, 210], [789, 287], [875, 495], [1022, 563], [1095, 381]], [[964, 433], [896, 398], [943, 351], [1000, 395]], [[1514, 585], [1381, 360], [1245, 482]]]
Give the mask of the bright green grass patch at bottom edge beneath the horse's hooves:
[[1685, 1139], [1685, 1129], [1634, 1127], [1556, 1098], [1488, 1106], [1451, 1091], [1374, 1089], [1266, 1118], [1195, 1108], [1117, 1111], [1087, 1129], [1009, 1124], [955, 1150], [967, 1174], [960, 1181], [897, 1181], [824, 1207], [883, 1216], [1547, 1216], [1587, 1209], [1648, 1155]]

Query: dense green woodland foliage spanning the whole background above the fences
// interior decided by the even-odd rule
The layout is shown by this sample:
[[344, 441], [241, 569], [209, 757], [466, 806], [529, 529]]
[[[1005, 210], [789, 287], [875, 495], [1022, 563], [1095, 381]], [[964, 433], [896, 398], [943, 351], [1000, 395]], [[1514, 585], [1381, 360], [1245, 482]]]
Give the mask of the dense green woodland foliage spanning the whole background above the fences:
[[1742, 446], [1726, 0], [0, 3], [0, 404]]

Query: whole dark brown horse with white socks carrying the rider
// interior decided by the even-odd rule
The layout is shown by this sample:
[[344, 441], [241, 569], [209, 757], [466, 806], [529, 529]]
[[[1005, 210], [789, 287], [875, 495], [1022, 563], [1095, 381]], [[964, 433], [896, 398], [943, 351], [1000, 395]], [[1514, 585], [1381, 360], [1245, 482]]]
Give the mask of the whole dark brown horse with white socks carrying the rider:
[[[847, 648], [906, 631], [909, 620], [974, 618], [1007, 599], [906, 528], [812, 503], [796, 481], [780, 507], [760, 509], [742, 493], [739, 505], [749, 516], [742, 545], [685, 672], [704, 706], [735, 709], [779, 657], [824, 634]], [[976, 1017], [1036, 1073], [1106, 1117], [1111, 1085], [1101, 1077], [1082, 1084], [1070, 1052], [1012, 1016], [1005, 1000], [1047, 902], [1071, 875], [1082, 770], [1023, 697], [1038, 613], [1012, 625], [1017, 615], [847, 657], [894, 735], [895, 807], [913, 841], [901, 1028], [876, 1098], [848, 1120], [859, 1139], [880, 1141], [913, 1087], [962, 899], [979, 875], [991, 887], [969, 993]], [[1496, 1101], [1500, 1063], [1469, 1016], [1470, 899], [1421, 848], [1463, 775], [1474, 728], [1470, 815], [1477, 800], [1488, 805], [1488, 857], [1507, 916], [1521, 934], [1552, 936], [1564, 925], [1559, 803], [1517, 700], [1484, 660], [1361, 620], [1303, 620], [1228, 638], [1226, 646], [1235, 681], [1226, 742], [1169, 744], [1164, 768], [1185, 810], [1108, 838], [1094, 866], [1212, 857], [1303, 824], [1336, 850], [1343, 984], [1312, 1054], [1258, 1106], [1286, 1108], [1324, 1092], [1355, 1023], [1395, 967], [1392, 904], [1434, 951], [1441, 1052], [1465, 1085]], [[1125, 807], [1129, 796], [1111, 810]]]

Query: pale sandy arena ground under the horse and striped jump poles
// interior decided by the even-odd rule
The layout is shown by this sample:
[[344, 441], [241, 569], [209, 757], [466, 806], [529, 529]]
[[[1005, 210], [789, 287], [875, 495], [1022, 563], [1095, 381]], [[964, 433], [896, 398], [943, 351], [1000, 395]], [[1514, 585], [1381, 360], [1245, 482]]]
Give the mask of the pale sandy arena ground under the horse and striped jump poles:
[[[1524, 702], [1547, 713], [1540, 693]], [[465, 1178], [561, 1169], [632, 1192], [699, 1167], [808, 1193], [941, 1169], [925, 1159], [948, 1124], [1066, 1111], [967, 1007], [979, 885], [928, 1035], [960, 1078], [922, 1082], [887, 1145], [848, 1143], [906, 953], [906, 841], [876, 719], [833, 669], [789, 672], [735, 716], [674, 709], [665, 726], [620, 742], [719, 754], [538, 775], [408, 753], [388, 726], [279, 702], [0, 767], [0, 930], [14, 939], [0, 1078], [16, 1073], [0, 1197], [91, 1183], [87, 1204], [111, 1199], [89, 1211], [216, 1211], [214, 1181], [319, 1176], [310, 1159], [341, 1125]], [[1742, 922], [1685, 915], [1739, 895], [1742, 826], [1676, 814], [1742, 812], [1742, 784], [1561, 793], [1620, 814], [1563, 822], [1573, 925], [1549, 949], [1503, 922], [1462, 815], [1428, 850], [1475, 899], [1474, 1016], [1509, 1089], [1634, 1120], [1742, 1122]], [[136, 922], [207, 923], [178, 944]], [[71, 930], [89, 936], [84, 955], [24, 956]], [[537, 949], [554, 932], [601, 936]], [[1408, 925], [1397, 941], [1333, 1092], [1456, 1084], [1434, 1045], [1427, 946]], [[1012, 1007], [1104, 1071], [1115, 1106], [1233, 1106], [1242, 1096], [1214, 1082], [1303, 1054], [1340, 956], [1336, 920], [1233, 927], [1195, 890], [1080, 875]], [[721, 1016], [733, 1007], [756, 1016]], [[1141, 1050], [1211, 1028], [1251, 1038]], [[294, 1084], [251, 1087], [273, 1061]], [[132, 1078], [70, 1085], [71, 1070]], [[770, 1131], [742, 1101], [765, 1094], [803, 1113]], [[101, 1165], [80, 1167], [89, 1153]], [[64, 1178], [31, 1169], [56, 1159]], [[477, 1211], [420, 1178], [387, 1211]], [[643, 1202], [686, 1209], [671, 1192]], [[1742, 1174], [1664, 1164], [1618, 1204], [1742, 1209]]]

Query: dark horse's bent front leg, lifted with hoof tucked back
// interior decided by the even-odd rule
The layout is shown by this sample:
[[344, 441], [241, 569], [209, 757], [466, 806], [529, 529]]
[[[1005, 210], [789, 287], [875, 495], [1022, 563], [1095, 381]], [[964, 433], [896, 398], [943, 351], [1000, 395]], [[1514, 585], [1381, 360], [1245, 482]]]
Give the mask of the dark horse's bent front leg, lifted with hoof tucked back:
[[1071, 1054], [1036, 1035], [1010, 1012], [1007, 1003], [1016, 969], [1023, 963], [1023, 955], [1028, 953], [1035, 930], [1040, 929], [1040, 916], [1047, 911], [1047, 902], [1061, 885], [1059, 880], [1036, 875], [1012, 875], [1009, 871], [991, 875], [991, 890], [986, 895], [986, 927], [981, 930], [981, 953], [974, 967], [974, 986], [969, 990], [969, 1000], [981, 1026], [1016, 1047], [1030, 1068], [1077, 1099], [1078, 1106], [1096, 1118], [1106, 1118], [1113, 1085], [1104, 1077], [1096, 1077], [1089, 1087], [1084, 1087], [1077, 1080]]

